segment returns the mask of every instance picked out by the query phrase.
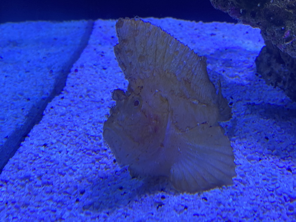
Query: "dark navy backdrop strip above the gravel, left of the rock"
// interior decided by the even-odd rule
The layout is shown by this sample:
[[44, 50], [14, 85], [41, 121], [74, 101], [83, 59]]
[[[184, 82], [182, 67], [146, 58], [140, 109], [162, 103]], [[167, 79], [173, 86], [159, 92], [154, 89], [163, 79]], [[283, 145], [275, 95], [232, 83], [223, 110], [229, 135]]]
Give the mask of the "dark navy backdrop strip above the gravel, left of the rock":
[[235, 22], [210, 0], [0, 0], [0, 23], [27, 20], [174, 17], [203, 22]]

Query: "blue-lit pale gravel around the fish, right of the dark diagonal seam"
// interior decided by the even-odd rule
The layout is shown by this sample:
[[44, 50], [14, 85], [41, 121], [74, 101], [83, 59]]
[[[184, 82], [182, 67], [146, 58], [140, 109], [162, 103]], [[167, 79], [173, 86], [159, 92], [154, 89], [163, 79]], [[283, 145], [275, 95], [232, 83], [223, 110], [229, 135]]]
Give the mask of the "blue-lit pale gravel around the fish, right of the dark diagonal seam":
[[146, 20], [206, 55], [211, 80], [221, 79], [232, 104], [221, 126], [234, 150], [233, 185], [178, 194], [118, 165], [102, 128], [111, 91], [127, 81], [113, 53], [115, 21], [97, 20], [62, 93], [0, 175], [0, 221], [295, 221], [296, 104], [256, 75], [260, 30]]

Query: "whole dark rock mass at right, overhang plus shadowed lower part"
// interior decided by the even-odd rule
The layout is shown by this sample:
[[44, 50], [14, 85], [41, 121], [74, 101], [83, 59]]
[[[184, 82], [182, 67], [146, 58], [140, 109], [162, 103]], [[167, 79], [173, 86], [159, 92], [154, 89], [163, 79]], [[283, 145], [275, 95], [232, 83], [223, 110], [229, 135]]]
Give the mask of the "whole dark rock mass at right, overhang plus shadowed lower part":
[[216, 9], [246, 25], [261, 29], [266, 48], [256, 60], [258, 73], [279, 86], [294, 101], [296, 59], [296, 0], [210, 0]]

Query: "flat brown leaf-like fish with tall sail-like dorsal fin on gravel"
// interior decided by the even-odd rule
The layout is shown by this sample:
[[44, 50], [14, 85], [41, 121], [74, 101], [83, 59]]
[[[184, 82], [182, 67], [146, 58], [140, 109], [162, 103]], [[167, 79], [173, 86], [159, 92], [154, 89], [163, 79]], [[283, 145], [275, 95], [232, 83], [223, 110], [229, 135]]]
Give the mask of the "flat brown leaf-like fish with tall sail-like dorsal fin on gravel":
[[115, 89], [103, 138], [131, 176], [166, 177], [179, 192], [232, 184], [234, 153], [219, 121], [231, 107], [207, 73], [205, 56], [139, 18], [115, 25], [114, 53], [128, 80]]

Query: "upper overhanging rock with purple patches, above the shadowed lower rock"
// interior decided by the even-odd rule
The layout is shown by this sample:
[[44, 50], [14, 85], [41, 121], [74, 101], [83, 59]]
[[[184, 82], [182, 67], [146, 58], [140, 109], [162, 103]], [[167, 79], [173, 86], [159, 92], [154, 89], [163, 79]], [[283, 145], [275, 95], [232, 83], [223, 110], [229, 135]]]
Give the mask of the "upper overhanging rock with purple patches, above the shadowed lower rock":
[[210, 0], [243, 24], [260, 28], [265, 41], [296, 58], [296, 0]]

